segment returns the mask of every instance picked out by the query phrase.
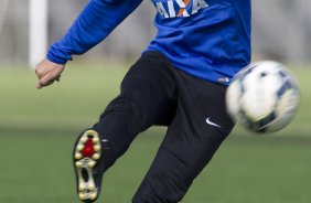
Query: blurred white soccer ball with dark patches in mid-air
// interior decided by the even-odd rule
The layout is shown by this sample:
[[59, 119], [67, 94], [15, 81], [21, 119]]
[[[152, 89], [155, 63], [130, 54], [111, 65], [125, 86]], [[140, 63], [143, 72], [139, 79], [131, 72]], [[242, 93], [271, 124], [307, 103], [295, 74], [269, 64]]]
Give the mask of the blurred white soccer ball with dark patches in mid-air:
[[258, 62], [238, 72], [226, 92], [230, 117], [256, 132], [286, 127], [300, 103], [294, 76], [277, 62]]

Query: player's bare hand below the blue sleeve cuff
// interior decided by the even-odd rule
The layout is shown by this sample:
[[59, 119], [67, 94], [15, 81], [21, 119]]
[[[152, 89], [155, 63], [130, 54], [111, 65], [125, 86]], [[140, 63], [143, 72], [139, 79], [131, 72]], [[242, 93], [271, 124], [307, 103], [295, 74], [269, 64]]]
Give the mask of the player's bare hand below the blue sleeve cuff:
[[39, 78], [36, 88], [42, 88], [52, 85], [55, 81], [60, 82], [61, 74], [65, 70], [65, 65], [56, 64], [47, 58], [42, 60], [35, 66], [35, 74]]

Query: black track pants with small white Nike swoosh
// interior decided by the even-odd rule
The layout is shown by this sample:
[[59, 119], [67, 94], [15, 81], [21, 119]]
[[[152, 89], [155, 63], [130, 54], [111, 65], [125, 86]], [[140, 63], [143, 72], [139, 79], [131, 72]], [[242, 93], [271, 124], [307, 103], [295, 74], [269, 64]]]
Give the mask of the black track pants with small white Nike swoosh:
[[152, 125], [168, 126], [156, 159], [138, 189], [135, 203], [176, 203], [208, 163], [234, 124], [225, 108], [226, 87], [174, 68], [149, 52], [129, 70], [121, 93], [94, 129], [115, 152], [106, 169]]

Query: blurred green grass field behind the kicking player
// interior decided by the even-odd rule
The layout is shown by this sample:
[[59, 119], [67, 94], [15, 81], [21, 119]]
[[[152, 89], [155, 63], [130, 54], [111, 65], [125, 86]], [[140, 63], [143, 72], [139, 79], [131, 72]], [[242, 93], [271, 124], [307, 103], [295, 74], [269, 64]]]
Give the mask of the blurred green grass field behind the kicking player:
[[[311, 68], [293, 70], [302, 101], [292, 124], [269, 136], [237, 127], [183, 203], [311, 202]], [[35, 89], [26, 67], [0, 68], [0, 202], [74, 203], [73, 142], [118, 94], [122, 65], [69, 65], [62, 82]], [[98, 202], [130, 202], [165, 129], [141, 133], [105, 174]]]

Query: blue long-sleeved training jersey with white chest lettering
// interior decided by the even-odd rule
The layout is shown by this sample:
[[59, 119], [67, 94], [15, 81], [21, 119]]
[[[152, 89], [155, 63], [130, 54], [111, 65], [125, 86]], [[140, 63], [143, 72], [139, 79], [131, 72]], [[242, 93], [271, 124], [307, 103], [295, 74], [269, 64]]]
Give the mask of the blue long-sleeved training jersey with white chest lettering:
[[[147, 47], [174, 67], [228, 85], [250, 63], [250, 0], [151, 0], [157, 36]], [[65, 64], [101, 42], [141, 0], [90, 0], [47, 58]]]

